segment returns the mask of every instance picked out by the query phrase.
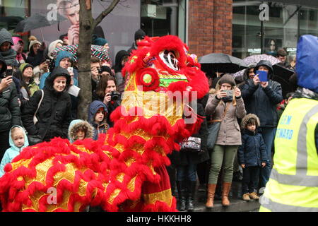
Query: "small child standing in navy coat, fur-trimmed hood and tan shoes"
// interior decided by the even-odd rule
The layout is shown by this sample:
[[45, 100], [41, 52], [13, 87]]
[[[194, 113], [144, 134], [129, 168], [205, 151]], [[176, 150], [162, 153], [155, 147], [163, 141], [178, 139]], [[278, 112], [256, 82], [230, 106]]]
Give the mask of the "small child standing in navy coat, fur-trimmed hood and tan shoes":
[[261, 167], [266, 166], [266, 145], [261, 133], [258, 131], [260, 125], [256, 114], [247, 114], [241, 123], [242, 145], [237, 151], [238, 161], [243, 169], [242, 199], [249, 201], [259, 199], [257, 196], [256, 182], [259, 178]]

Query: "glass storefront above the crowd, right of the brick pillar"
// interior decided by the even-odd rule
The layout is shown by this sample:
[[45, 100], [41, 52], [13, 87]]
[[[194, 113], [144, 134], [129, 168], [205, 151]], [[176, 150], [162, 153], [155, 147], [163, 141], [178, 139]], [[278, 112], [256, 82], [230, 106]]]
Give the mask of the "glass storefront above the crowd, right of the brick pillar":
[[[263, 23], [264, 35], [261, 35], [259, 17], [261, 4], [269, 6], [269, 17]], [[233, 0], [232, 34], [232, 55], [235, 57], [243, 59], [261, 52], [274, 55], [279, 48], [284, 48], [290, 61], [295, 56], [300, 35], [318, 36], [318, 7], [278, 1]]]

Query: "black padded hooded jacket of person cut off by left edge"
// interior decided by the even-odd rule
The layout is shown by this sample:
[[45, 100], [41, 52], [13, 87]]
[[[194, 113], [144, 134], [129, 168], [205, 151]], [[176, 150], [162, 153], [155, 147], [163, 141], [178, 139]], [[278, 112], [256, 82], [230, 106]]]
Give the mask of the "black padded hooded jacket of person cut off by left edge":
[[[6, 61], [0, 54], [3, 66], [0, 71], [0, 83], [6, 71]], [[0, 132], [8, 131], [13, 125], [20, 125], [20, 107], [15, 83], [0, 91]]]

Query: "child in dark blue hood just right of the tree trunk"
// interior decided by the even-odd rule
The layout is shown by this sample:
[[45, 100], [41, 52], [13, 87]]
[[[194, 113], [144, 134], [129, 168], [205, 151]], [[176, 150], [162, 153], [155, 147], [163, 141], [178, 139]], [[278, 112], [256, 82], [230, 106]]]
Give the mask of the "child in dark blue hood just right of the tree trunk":
[[107, 107], [99, 101], [94, 100], [89, 107], [88, 121], [94, 128], [93, 140], [97, 140], [100, 133], [107, 133], [110, 126], [107, 124]]

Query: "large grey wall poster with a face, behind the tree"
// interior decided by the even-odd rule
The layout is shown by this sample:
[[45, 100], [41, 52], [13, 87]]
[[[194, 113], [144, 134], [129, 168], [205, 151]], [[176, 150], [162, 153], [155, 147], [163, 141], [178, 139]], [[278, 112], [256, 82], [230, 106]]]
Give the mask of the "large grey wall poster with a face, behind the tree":
[[[79, 42], [79, 0], [30, 0], [30, 16], [44, 15], [52, 25], [30, 31], [37, 40], [49, 44], [63, 40], [68, 44]], [[93, 1], [93, 18], [97, 18], [110, 5], [110, 1]], [[118, 4], [95, 28], [93, 35], [107, 40], [110, 57], [121, 49], [129, 49], [134, 32], [140, 28], [140, 2], [126, 0]]]

